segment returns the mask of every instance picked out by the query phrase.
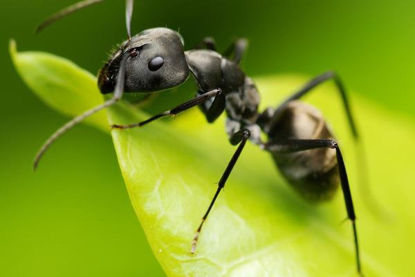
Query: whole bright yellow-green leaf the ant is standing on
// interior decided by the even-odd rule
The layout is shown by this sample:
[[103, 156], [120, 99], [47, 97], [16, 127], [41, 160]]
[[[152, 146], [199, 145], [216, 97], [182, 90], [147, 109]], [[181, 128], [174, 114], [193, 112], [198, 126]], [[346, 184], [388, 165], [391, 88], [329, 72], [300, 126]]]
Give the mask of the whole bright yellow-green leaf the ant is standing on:
[[[46, 53], [12, 55], [29, 87], [57, 111], [74, 116], [100, 97], [95, 78], [71, 62]], [[31, 68], [39, 70], [33, 73]], [[67, 74], [71, 82], [56, 81]], [[255, 78], [261, 109], [277, 105], [307, 80], [292, 74]], [[82, 93], [94, 96], [73, 98]], [[334, 87], [325, 84], [305, 100], [329, 118], [344, 152], [365, 276], [411, 276], [414, 122], [352, 94], [369, 162], [372, 195], [367, 195], [368, 187], [358, 182], [360, 148], [348, 132]], [[135, 123], [148, 116], [125, 103], [109, 111], [111, 123]], [[102, 117], [90, 123], [108, 125]], [[167, 276], [357, 276], [351, 226], [341, 223], [346, 211], [340, 191], [331, 202], [304, 202], [279, 175], [270, 155], [250, 144], [203, 227], [196, 253], [189, 253], [235, 149], [223, 125], [223, 117], [209, 125], [194, 109], [140, 129], [111, 132], [131, 202]], [[373, 199], [380, 212], [373, 212]]]

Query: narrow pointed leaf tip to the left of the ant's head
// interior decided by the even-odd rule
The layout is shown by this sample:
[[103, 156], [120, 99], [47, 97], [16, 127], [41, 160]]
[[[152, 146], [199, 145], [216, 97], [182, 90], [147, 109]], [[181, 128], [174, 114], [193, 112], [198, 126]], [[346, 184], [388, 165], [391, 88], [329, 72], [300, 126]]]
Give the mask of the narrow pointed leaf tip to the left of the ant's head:
[[[52, 109], [73, 116], [102, 102], [95, 76], [70, 60], [44, 52], [17, 53], [14, 40], [10, 40], [9, 52], [24, 82]], [[85, 122], [108, 129], [104, 111]]]

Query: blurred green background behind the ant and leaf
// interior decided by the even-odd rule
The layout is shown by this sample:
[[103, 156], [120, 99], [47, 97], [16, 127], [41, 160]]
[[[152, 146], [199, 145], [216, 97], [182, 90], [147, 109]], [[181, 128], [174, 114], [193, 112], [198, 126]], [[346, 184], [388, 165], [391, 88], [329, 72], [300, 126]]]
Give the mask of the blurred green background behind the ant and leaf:
[[[163, 276], [109, 136], [81, 125], [56, 143], [36, 174], [31, 170], [39, 145], [66, 118], [25, 87], [8, 39], [19, 50], [62, 55], [97, 73], [126, 37], [121, 0], [33, 34], [39, 21], [73, 2], [2, 0], [0, 276]], [[180, 29], [187, 48], [207, 35], [221, 49], [248, 37], [249, 75], [335, 69], [349, 89], [415, 116], [414, 1], [136, 1], [134, 33], [155, 26]]]

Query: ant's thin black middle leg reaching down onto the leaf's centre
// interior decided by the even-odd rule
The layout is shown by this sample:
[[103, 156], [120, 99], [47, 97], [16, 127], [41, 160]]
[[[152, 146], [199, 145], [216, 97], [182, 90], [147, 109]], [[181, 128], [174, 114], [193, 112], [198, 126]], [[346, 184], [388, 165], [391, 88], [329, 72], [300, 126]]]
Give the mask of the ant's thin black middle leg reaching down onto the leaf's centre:
[[248, 129], [240, 129], [238, 132], [234, 132], [232, 136], [230, 137], [230, 143], [232, 145], [237, 145], [239, 143], [239, 146], [237, 150], [234, 152], [232, 159], [230, 159], [230, 162], [228, 163], [228, 166], [226, 166], [225, 171], [223, 172], [223, 175], [221, 179], [219, 180], [218, 188], [216, 190], [216, 193], [214, 194], [214, 197], [212, 199], [212, 202], [210, 202], [210, 205], [208, 207], [208, 211], [206, 211], [205, 215], [202, 217], [202, 222], [199, 225], [199, 228], [196, 230], [196, 233], [194, 234], [193, 242], [192, 242], [192, 248], [190, 249], [190, 253], [194, 253], [196, 251], [196, 244], [199, 240], [199, 235], [202, 230], [203, 223], [205, 223], [206, 218], [208, 217], [210, 210], [212, 210], [213, 204], [216, 201], [216, 198], [218, 197], [219, 193], [221, 192], [222, 188], [225, 186], [226, 180], [228, 180], [228, 177], [230, 175], [230, 172], [232, 172], [232, 169], [234, 168], [235, 163], [237, 163], [239, 159], [239, 155], [241, 154], [243, 148], [245, 147], [246, 141], [250, 138], [250, 132]]

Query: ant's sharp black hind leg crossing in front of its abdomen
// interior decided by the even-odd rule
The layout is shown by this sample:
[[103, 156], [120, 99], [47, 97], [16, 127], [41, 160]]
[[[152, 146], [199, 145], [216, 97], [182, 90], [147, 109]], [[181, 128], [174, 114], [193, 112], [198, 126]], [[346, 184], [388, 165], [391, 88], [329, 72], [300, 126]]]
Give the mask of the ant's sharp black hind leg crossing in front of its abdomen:
[[282, 142], [271, 142], [265, 145], [265, 149], [270, 152], [299, 152], [304, 150], [311, 150], [315, 148], [333, 148], [335, 149], [336, 158], [338, 161], [338, 170], [340, 175], [340, 184], [344, 196], [344, 203], [346, 204], [347, 217], [351, 220], [353, 237], [356, 252], [356, 266], [358, 273], [362, 276], [362, 267], [360, 266], [360, 252], [358, 244], [358, 233], [356, 231], [356, 213], [353, 208], [353, 200], [351, 198], [349, 179], [347, 179], [346, 167], [340, 152], [338, 143], [332, 139], [289, 139]]

